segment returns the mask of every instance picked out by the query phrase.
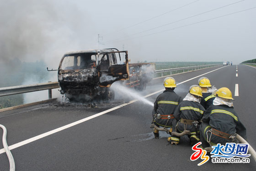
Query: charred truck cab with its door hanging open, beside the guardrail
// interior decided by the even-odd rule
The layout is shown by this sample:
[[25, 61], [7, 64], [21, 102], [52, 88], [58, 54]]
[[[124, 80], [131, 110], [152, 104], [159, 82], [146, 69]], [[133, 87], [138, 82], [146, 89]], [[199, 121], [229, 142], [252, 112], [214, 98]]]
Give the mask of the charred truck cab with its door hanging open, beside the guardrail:
[[65, 53], [58, 68], [60, 93], [69, 100], [113, 99], [111, 84], [128, 79], [128, 52], [115, 48]]

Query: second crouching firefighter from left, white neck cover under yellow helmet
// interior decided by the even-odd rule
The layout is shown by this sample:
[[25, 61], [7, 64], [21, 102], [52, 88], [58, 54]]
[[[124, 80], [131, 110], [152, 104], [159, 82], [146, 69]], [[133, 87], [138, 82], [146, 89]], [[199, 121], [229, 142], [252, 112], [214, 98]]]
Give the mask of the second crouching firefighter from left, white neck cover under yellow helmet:
[[[189, 88], [189, 93], [183, 98], [183, 101], [178, 105], [174, 112], [176, 120], [173, 122], [172, 129], [178, 133], [184, 130], [189, 130], [188, 135], [190, 143], [195, 145], [199, 139], [199, 121], [203, 117], [205, 109], [200, 104], [202, 98], [202, 89], [198, 85], [192, 85]], [[170, 139], [169, 139], [170, 140]], [[179, 144], [180, 137], [171, 135], [171, 144]]]

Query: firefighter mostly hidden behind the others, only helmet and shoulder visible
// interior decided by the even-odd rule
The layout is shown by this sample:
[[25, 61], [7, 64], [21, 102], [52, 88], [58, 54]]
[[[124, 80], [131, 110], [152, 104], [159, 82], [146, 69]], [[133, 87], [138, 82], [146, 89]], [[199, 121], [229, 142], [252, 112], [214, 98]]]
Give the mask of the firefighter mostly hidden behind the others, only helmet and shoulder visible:
[[201, 103], [204, 109], [207, 109], [211, 104], [213, 104], [213, 100], [215, 95], [213, 94], [217, 88], [211, 85], [210, 80], [206, 77], [201, 77], [198, 79], [198, 85], [202, 88], [203, 98]]

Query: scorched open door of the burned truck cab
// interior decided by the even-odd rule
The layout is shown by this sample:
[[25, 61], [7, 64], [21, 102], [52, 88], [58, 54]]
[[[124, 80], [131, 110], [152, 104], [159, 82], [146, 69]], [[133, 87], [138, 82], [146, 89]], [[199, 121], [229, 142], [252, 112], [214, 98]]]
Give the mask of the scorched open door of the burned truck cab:
[[101, 54], [103, 56], [98, 70], [100, 87], [110, 87], [115, 81], [129, 79], [127, 51], [103, 52]]

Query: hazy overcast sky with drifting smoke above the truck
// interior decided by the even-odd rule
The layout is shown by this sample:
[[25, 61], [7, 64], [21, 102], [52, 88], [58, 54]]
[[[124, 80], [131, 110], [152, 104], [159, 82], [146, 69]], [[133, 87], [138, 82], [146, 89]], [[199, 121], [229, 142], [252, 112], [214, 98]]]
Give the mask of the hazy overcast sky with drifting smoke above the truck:
[[0, 0], [0, 62], [43, 59], [56, 69], [65, 52], [124, 47], [132, 62], [238, 64], [256, 58], [253, 7], [256, 0]]

